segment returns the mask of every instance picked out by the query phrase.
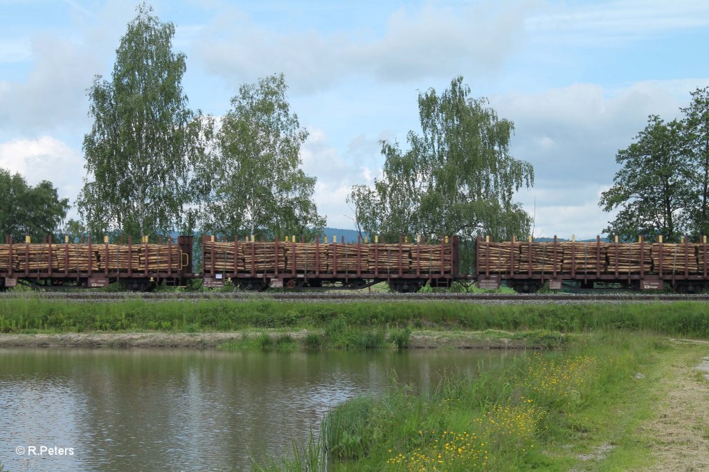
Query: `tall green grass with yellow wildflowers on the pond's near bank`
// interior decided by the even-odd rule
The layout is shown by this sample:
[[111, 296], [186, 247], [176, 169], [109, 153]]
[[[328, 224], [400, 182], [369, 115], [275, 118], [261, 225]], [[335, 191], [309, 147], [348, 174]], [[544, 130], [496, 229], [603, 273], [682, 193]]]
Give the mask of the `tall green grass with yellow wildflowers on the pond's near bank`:
[[[593, 335], [581, 347], [519, 356], [477, 378], [448, 376], [428, 395], [398, 386], [338, 405], [323, 422], [331, 470], [562, 468], [541, 449], [568, 444], [575, 413], [608, 408], [661, 346], [646, 335]], [[576, 428], [576, 429], [575, 429]]]

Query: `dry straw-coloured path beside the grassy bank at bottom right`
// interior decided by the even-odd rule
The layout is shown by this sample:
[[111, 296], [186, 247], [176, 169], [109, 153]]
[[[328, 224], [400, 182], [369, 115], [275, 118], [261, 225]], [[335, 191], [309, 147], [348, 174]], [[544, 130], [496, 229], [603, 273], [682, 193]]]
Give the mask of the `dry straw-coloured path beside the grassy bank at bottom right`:
[[[702, 363], [705, 367], [706, 359]], [[672, 365], [657, 419], [642, 427], [656, 463], [645, 471], [709, 471], [709, 381], [696, 366]]]

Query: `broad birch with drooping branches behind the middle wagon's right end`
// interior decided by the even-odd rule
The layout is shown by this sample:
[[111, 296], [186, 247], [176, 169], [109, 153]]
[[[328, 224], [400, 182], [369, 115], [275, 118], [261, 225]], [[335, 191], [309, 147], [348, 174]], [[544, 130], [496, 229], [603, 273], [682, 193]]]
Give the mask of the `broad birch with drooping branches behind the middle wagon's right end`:
[[383, 178], [374, 188], [354, 186], [348, 198], [358, 227], [388, 237], [529, 234], [530, 216], [512, 198], [533, 184], [534, 170], [510, 156], [513, 123], [486, 99], [471, 98], [462, 81], [453, 79], [440, 95], [419, 94], [421, 134], [408, 133], [408, 151], [381, 142]]

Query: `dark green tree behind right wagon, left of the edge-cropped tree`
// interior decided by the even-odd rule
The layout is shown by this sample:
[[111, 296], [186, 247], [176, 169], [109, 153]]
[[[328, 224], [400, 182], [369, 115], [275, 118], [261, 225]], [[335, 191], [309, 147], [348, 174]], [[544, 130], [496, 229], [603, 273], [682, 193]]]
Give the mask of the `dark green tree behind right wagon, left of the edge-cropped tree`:
[[623, 167], [598, 205], [620, 212], [603, 232], [623, 240], [662, 235], [667, 242], [677, 241], [688, 228], [696, 201], [683, 128], [678, 120], [664, 123], [655, 115], [647, 121], [635, 142], [615, 157]]

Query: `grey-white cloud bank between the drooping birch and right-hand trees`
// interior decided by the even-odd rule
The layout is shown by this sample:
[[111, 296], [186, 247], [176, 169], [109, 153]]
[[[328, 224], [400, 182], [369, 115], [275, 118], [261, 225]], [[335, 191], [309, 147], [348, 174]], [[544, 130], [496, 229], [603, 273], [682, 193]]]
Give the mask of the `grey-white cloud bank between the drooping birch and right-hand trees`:
[[519, 193], [536, 213], [535, 235], [595, 237], [615, 212], [598, 206], [601, 191], [618, 171], [615, 154], [632, 143], [649, 114], [681, 116], [689, 92], [709, 79], [638, 82], [606, 91], [573, 84], [541, 94], [510, 94], [491, 100], [500, 116], [515, 122], [511, 153], [535, 167], [535, 188]]

